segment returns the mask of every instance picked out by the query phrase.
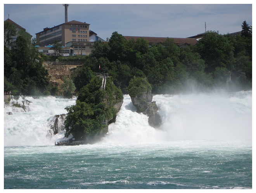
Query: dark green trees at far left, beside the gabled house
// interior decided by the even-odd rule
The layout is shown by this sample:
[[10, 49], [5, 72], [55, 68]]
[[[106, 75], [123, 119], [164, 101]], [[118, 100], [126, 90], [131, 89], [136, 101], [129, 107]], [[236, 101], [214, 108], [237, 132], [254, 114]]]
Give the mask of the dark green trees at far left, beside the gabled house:
[[[31, 36], [19, 30], [15, 41], [16, 48], [4, 51], [4, 75], [16, 93], [41, 95], [48, 86], [48, 72], [42, 66], [38, 50], [31, 45]], [[8, 84], [5, 84], [8, 85]]]

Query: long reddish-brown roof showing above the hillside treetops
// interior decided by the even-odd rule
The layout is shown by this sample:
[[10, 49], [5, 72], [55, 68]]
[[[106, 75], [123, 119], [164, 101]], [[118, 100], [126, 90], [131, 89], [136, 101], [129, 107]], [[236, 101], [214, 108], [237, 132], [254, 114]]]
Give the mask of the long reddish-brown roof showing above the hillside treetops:
[[[135, 41], [137, 41], [138, 38], [144, 38], [145, 40], [147, 40], [149, 42], [149, 44], [156, 44], [158, 42], [164, 42], [166, 41], [166, 39], [168, 37], [144, 37], [144, 36], [123, 36], [126, 40], [129, 39], [134, 39]], [[175, 44], [183, 44], [183, 43], [187, 43], [187, 44], [196, 44], [197, 40], [195, 38], [178, 38], [178, 37], [169, 37], [170, 39], [174, 40]]]

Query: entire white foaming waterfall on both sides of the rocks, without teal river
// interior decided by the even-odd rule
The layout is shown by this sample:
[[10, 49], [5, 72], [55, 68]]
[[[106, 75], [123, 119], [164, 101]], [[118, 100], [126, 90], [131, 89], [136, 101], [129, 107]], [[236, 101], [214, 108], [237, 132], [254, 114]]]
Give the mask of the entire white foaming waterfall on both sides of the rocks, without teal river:
[[[26, 97], [29, 112], [4, 113], [4, 146], [54, 145], [63, 132], [52, 139], [46, 137], [47, 125], [55, 114], [66, 113], [75, 103], [59, 97]], [[21, 101], [22, 98], [19, 99]], [[252, 141], [252, 91], [190, 95], [155, 95], [163, 124], [154, 129], [148, 117], [136, 113], [129, 95], [116, 122], [100, 144], [161, 144], [175, 141], [246, 142]], [[5, 112], [12, 111], [5, 107]], [[204, 142], [203, 142], [204, 143]]]

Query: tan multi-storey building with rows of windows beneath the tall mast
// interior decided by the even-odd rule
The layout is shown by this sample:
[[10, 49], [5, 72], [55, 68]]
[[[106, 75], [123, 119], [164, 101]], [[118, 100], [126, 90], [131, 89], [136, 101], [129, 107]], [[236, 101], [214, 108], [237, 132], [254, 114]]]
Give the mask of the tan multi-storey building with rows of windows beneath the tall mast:
[[57, 40], [65, 47], [73, 47], [71, 54], [88, 55], [93, 49], [89, 27], [90, 24], [75, 20], [51, 28], [46, 27], [42, 32], [36, 33], [36, 42], [40, 47], [45, 47]]

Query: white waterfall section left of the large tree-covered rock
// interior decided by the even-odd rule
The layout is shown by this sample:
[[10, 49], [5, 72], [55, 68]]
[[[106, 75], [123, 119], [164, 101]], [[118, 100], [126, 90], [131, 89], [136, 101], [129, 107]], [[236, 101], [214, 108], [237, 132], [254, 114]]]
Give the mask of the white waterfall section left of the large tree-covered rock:
[[[54, 145], [54, 141], [63, 139], [63, 132], [51, 139], [47, 137], [47, 131], [51, 119], [56, 114], [67, 113], [64, 109], [67, 105], [73, 105], [76, 98], [65, 99], [61, 97], [19, 97], [18, 103], [24, 100], [29, 103], [28, 112], [12, 112], [12, 107], [5, 107], [4, 112], [12, 112], [13, 115], [4, 113], [4, 146], [44, 146]], [[10, 103], [16, 103], [11, 100]]]

